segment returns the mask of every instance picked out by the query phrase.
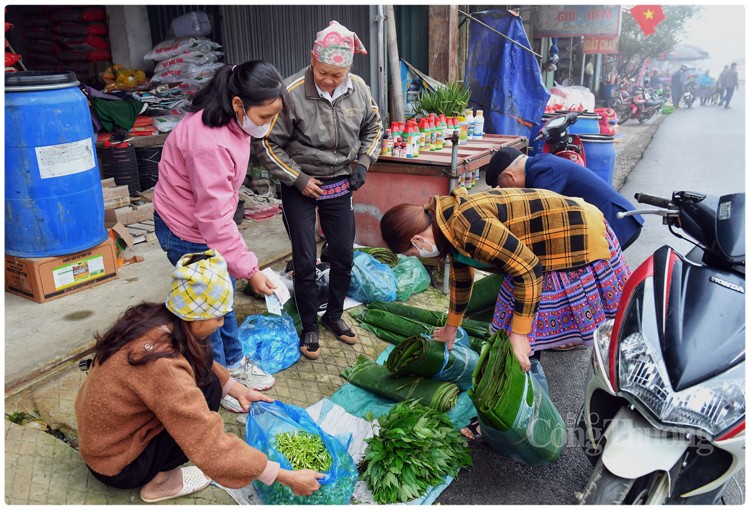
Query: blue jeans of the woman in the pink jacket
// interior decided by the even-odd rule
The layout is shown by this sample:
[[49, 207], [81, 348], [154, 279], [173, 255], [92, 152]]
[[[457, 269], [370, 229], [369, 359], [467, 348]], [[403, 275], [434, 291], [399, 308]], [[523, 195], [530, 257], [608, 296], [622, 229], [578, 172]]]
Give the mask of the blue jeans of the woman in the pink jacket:
[[[186, 253], [202, 253], [208, 250], [207, 244], [193, 243], [177, 237], [156, 211], [154, 211], [154, 228], [161, 249], [167, 252], [167, 258], [173, 266], [177, 265], [177, 261]], [[236, 291], [237, 281], [232, 275], [229, 275], [229, 278]], [[232, 310], [224, 316], [224, 325], [209, 337], [214, 361], [219, 365], [227, 367], [242, 361], [244, 354], [237, 329], [237, 316]]]

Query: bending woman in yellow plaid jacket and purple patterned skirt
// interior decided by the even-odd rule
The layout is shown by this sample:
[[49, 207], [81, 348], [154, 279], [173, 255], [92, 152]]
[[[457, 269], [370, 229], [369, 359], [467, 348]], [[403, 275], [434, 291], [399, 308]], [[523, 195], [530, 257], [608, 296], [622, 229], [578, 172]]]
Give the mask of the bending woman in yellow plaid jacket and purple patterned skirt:
[[508, 332], [521, 367], [530, 356], [571, 343], [592, 345], [614, 318], [630, 275], [602, 213], [580, 198], [542, 189], [458, 188], [426, 206], [389, 209], [380, 229], [396, 253], [450, 258], [450, 310], [434, 338], [453, 347], [474, 268], [505, 274], [492, 330]]

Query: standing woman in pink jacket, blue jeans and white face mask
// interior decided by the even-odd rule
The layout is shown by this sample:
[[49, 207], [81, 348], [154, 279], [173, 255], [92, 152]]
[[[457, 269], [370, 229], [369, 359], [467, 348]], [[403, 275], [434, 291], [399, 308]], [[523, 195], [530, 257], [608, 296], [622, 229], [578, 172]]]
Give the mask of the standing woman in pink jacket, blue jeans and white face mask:
[[[250, 161], [251, 137], [262, 138], [281, 111], [284, 86], [274, 66], [263, 61], [226, 65], [192, 96], [189, 113], [164, 142], [154, 189], [154, 224], [162, 249], [174, 265], [186, 253], [218, 251], [232, 283], [246, 279], [253, 291], [270, 295], [275, 286], [258, 270], [234, 222], [239, 189]], [[214, 360], [237, 381], [266, 390], [275, 379], [245, 358], [234, 312], [210, 337]], [[222, 406], [242, 408], [227, 396]]]

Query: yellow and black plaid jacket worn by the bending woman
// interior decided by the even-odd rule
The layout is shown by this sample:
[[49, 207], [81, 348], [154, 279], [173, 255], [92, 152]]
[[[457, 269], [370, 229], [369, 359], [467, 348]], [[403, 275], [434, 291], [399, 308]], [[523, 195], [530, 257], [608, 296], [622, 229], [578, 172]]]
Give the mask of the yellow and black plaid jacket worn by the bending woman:
[[[610, 258], [604, 216], [580, 198], [517, 188], [469, 195], [459, 188], [436, 197], [436, 213], [456, 251], [513, 277], [516, 333], [531, 332], [542, 273]], [[461, 325], [473, 285], [474, 269], [451, 258], [449, 325]]]

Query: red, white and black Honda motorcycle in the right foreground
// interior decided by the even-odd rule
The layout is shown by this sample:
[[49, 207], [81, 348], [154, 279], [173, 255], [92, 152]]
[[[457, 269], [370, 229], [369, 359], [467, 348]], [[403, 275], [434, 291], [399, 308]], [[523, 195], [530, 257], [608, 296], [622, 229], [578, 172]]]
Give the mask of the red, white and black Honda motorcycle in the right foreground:
[[745, 194], [636, 194], [687, 255], [656, 250], [599, 326], [579, 413], [582, 504], [712, 504], [745, 465]]

